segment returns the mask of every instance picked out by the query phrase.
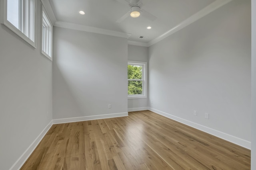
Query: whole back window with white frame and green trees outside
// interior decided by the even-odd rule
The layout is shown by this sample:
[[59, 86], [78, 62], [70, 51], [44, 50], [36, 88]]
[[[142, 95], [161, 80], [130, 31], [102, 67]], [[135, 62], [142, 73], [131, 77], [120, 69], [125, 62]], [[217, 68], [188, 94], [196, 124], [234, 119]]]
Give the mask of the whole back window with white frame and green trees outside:
[[147, 98], [146, 64], [128, 61], [128, 99]]

